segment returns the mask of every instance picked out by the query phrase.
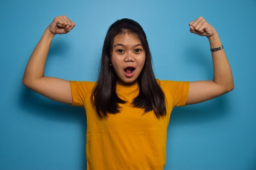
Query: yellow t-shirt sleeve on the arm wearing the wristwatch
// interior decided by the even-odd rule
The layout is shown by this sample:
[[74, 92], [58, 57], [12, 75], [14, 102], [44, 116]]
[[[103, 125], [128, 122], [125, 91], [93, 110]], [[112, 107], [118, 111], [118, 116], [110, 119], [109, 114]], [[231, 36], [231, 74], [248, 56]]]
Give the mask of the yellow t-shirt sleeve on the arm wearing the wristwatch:
[[189, 95], [189, 82], [161, 81], [173, 98], [174, 106], [185, 106]]

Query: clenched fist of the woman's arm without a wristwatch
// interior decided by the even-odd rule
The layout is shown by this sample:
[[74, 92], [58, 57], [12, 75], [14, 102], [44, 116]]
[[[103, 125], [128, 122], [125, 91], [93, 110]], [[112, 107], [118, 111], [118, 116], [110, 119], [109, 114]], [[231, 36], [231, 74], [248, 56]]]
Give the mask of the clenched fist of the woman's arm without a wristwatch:
[[74, 26], [74, 22], [68, 19], [65, 15], [62, 15], [55, 17], [52, 23], [47, 26], [47, 30], [54, 35], [66, 34], [70, 32]]

